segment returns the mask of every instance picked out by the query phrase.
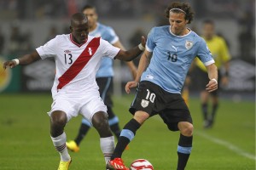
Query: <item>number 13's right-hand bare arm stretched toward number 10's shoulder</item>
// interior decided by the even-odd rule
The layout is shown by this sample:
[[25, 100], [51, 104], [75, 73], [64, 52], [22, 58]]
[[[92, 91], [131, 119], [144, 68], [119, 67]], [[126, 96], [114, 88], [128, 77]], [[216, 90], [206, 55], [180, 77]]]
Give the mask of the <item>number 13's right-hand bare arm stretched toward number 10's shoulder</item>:
[[[143, 48], [145, 48], [146, 45], [146, 38], [142, 37], [142, 42], [135, 48], [131, 48], [128, 51], [125, 50], [119, 50], [119, 53], [114, 57], [115, 59], [120, 59], [124, 61], [131, 61], [132, 59], [137, 58], [140, 54], [143, 52]], [[143, 47], [141, 47], [143, 46]]]

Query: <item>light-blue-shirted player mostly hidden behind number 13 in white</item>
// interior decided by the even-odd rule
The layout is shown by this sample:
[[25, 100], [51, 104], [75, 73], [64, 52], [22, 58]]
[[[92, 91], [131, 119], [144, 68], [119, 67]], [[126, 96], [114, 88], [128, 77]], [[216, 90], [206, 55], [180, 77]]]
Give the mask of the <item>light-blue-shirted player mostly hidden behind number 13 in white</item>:
[[[102, 37], [102, 39], [110, 42], [113, 44], [113, 46], [121, 49], [125, 49], [121, 42], [119, 42], [119, 37], [116, 35], [116, 33], [113, 31], [113, 28], [110, 26], [102, 25], [101, 23], [97, 22], [97, 14], [96, 14], [96, 8], [90, 5], [85, 5], [84, 8], [82, 8], [82, 12], [87, 16], [88, 18], [88, 24], [90, 26], [89, 35], [93, 37]], [[137, 75], [137, 68], [133, 64], [132, 61], [126, 62], [128, 67], [130, 68], [131, 75], [133, 78]], [[102, 100], [104, 101], [104, 104], [107, 105], [108, 108], [108, 123], [109, 126], [114, 133], [114, 135], [119, 138], [120, 134], [120, 127], [119, 127], [119, 119], [115, 114], [113, 113], [112, 107], [112, 99], [111, 94], [113, 91], [113, 59], [110, 59], [108, 57], [104, 57], [102, 59], [101, 66], [96, 74], [96, 82], [99, 86], [99, 91], [102, 97]], [[69, 150], [72, 150], [74, 152], [79, 151], [79, 144], [84, 139], [84, 136], [89, 131], [91, 125], [90, 122], [83, 119], [81, 126], [79, 127], [79, 133], [74, 140], [70, 140], [67, 142], [67, 148]]]

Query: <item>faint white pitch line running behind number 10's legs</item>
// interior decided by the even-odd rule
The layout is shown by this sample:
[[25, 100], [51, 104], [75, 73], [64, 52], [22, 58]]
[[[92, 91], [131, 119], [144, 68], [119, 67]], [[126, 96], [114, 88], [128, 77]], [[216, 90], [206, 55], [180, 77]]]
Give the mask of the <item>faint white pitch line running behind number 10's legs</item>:
[[[122, 99], [118, 99], [118, 102], [119, 102], [120, 105], [130, 106], [132, 100], [130, 101], [130, 99], [122, 98]], [[160, 120], [159, 116], [154, 116], [153, 118], [156, 119], [156, 120]], [[212, 136], [208, 135], [207, 133], [203, 133], [203, 132], [200, 132], [198, 130], [195, 132], [195, 134], [201, 136], [202, 138], [208, 139], [208, 140], [212, 141], [215, 144], [223, 145], [226, 148], [228, 148], [229, 150], [232, 150], [232, 151], [236, 152], [238, 155], [247, 157], [249, 159], [256, 160], [256, 156], [254, 156], [253, 154], [250, 154], [247, 151], [241, 150], [236, 145], [230, 144], [227, 141], [212, 137]]]

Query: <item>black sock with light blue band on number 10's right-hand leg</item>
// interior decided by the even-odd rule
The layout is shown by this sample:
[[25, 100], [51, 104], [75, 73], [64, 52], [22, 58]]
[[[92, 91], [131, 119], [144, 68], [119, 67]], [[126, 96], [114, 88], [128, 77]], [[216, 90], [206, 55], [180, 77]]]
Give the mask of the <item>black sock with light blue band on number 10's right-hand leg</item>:
[[192, 150], [193, 136], [183, 136], [180, 134], [178, 145], [177, 145], [177, 170], [183, 170], [189, 160], [189, 156]]

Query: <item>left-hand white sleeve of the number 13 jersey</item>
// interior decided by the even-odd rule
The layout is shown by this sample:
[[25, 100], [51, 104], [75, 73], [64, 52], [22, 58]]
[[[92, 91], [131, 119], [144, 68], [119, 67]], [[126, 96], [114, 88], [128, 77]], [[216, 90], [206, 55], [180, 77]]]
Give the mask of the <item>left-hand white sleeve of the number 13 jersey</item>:
[[55, 56], [55, 48], [56, 48], [56, 37], [46, 42], [44, 46], [40, 46], [36, 48], [38, 54], [40, 55], [41, 59], [46, 59], [49, 57]]

